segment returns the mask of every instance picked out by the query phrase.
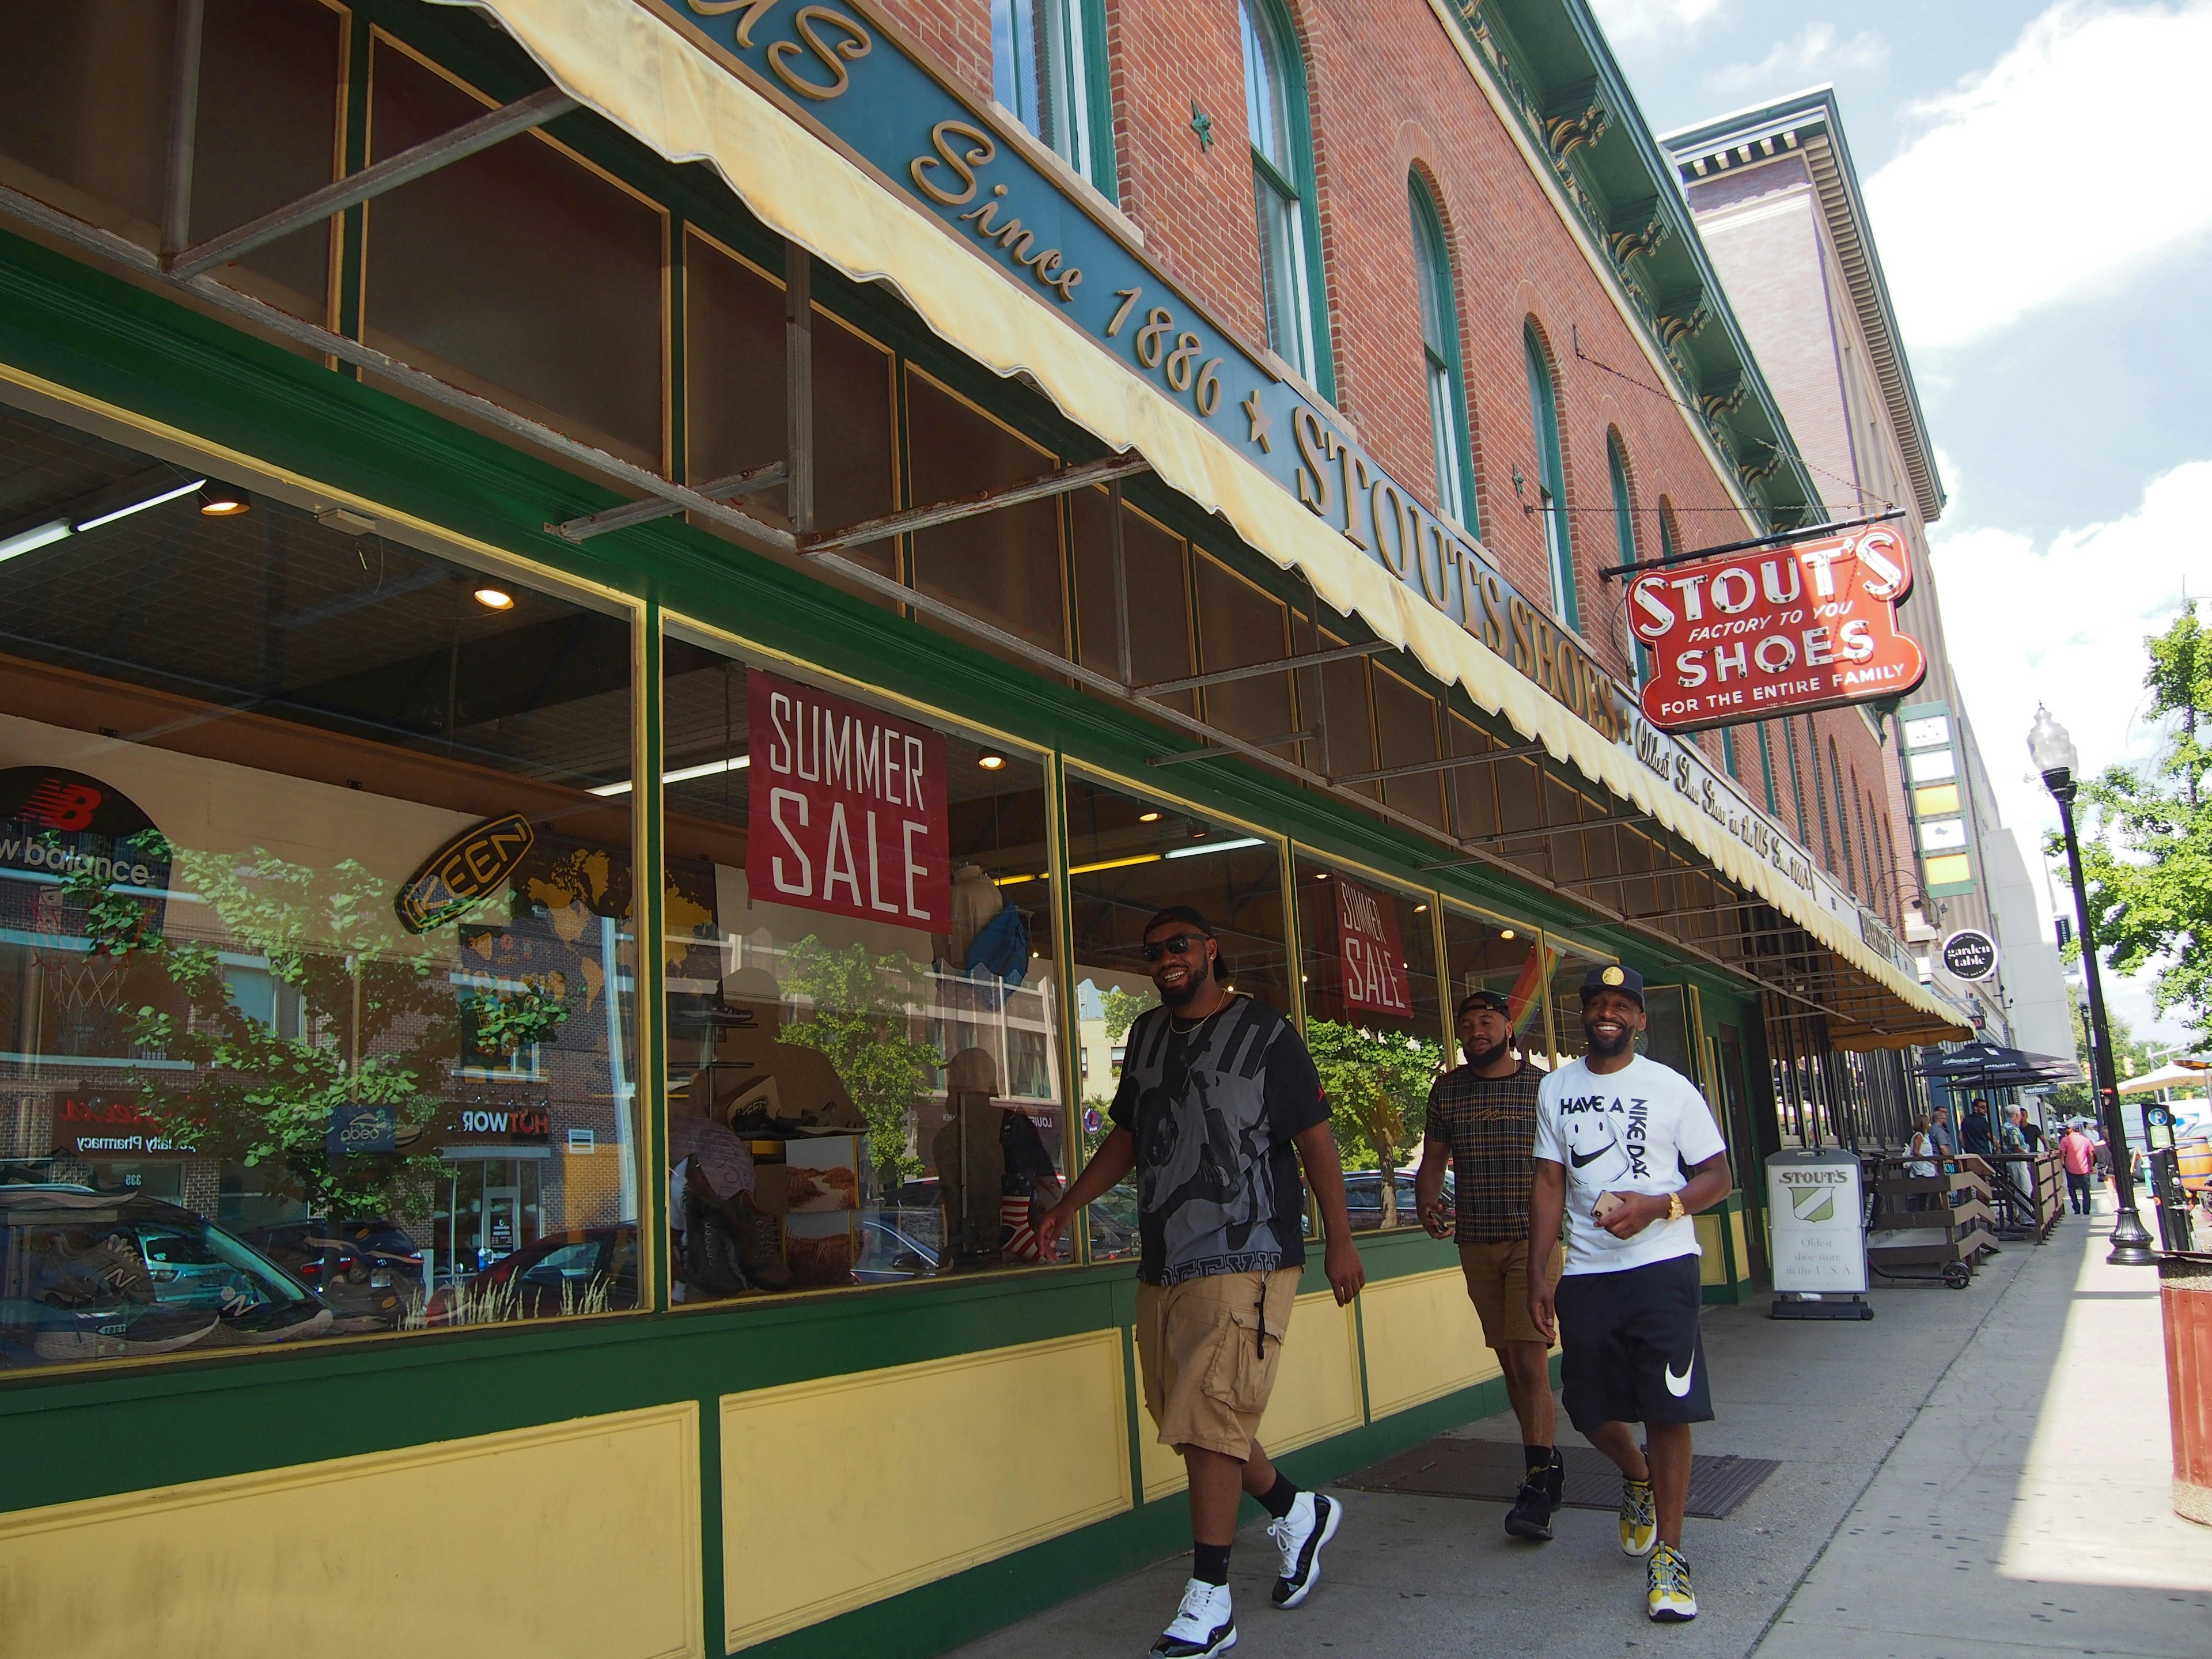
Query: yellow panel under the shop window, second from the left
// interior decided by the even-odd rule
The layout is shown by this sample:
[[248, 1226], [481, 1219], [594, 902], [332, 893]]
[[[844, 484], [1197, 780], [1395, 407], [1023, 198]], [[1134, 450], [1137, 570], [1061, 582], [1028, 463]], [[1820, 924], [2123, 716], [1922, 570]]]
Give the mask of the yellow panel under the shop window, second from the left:
[[721, 1398], [728, 1648], [1130, 1504], [1121, 1332]]

